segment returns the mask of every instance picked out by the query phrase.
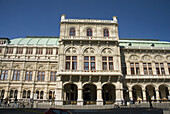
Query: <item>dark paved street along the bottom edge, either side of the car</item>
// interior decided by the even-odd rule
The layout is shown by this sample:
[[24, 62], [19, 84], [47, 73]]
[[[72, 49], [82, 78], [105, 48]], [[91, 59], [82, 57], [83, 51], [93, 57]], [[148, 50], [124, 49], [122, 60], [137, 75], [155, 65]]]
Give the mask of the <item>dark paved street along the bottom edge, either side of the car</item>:
[[[43, 114], [46, 109], [1, 109], [0, 114]], [[68, 109], [69, 110], [69, 109]], [[117, 108], [117, 109], [70, 109], [73, 114], [163, 114], [161, 109]]]

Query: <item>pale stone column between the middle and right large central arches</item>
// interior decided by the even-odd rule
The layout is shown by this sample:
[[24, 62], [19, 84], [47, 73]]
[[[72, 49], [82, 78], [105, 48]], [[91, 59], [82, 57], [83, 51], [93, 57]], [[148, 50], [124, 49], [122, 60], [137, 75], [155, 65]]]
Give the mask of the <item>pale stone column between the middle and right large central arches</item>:
[[101, 82], [97, 83], [97, 105], [103, 105], [103, 99], [102, 99], [102, 84]]

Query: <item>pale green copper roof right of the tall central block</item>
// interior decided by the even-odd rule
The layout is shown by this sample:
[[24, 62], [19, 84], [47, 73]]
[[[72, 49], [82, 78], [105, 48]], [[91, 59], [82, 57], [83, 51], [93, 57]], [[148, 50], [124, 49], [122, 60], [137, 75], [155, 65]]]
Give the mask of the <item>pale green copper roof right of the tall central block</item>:
[[120, 46], [134, 46], [134, 47], [170, 47], [170, 42], [158, 40], [119, 40]]

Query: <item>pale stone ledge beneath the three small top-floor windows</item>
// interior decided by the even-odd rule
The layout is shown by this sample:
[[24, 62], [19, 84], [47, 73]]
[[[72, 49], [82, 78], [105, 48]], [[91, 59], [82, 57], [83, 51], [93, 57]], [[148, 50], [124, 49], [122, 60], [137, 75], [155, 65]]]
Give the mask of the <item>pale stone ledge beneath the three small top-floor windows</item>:
[[117, 37], [63, 36], [62, 40], [117, 41]]

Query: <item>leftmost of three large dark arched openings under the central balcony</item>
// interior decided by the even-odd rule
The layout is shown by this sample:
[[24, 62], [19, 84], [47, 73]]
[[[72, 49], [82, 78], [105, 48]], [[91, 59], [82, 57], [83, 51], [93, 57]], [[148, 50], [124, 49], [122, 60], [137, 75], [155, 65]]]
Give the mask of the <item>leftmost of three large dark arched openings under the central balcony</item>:
[[77, 86], [75, 84], [64, 85], [64, 104], [77, 104]]

